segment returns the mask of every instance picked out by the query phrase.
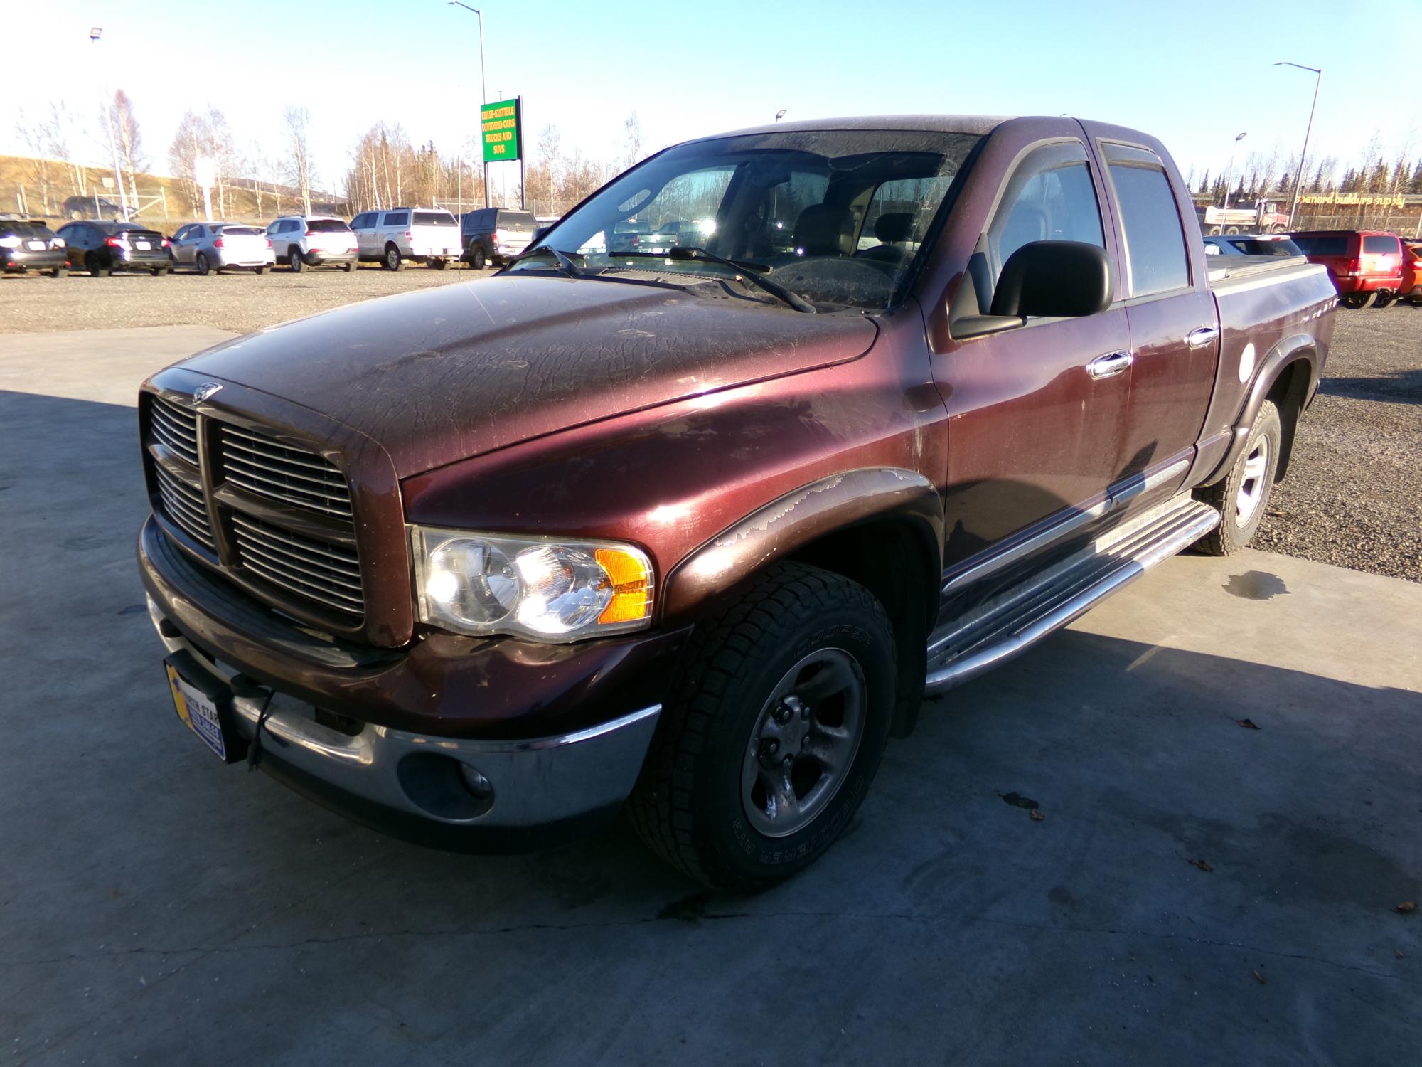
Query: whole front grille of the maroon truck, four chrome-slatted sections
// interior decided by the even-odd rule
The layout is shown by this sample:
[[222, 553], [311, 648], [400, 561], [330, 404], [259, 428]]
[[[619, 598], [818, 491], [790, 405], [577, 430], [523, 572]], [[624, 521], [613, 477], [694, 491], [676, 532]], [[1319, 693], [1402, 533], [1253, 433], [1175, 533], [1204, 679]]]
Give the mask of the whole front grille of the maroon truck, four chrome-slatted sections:
[[361, 625], [351, 492], [336, 464], [159, 396], [148, 398], [148, 427], [154, 508], [169, 532], [279, 609], [337, 632]]

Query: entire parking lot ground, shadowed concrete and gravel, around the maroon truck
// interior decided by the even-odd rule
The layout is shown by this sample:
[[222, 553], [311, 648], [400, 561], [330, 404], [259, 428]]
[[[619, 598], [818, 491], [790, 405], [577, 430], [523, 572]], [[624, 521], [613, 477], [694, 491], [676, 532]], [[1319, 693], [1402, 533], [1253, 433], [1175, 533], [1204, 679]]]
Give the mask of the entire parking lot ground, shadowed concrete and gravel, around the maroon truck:
[[[242, 316], [465, 277], [0, 285], [6, 329], [24, 307], [44, 331], [0, 337], [10, 1061], [1416, 1058], [1422, 912], [1395, 911], [1422, 896], [1416, 582], [1169, 561], [930, 701], [845, 839], [752, 899], [704, 892], [621, 825], [447, 855], [218, 765], [172, 714], [142, 606], [137, 383]], [[185, 303], [154, 312], [138, 287]], [[127, 313], [182, 324], [63, 331]], [[1416, 314], [1340, 316], [1274, 522], [1328, 494], [1384, 511], [1320, 521], [1297, 556], [1351, 538], [1367, 563], [1376, 539], [1418, 565]], [[1412, 391], [1367, 396], [1394, 383]], [[1376, 475], [1351, 497], [1328, 481], [1349, 464]]]

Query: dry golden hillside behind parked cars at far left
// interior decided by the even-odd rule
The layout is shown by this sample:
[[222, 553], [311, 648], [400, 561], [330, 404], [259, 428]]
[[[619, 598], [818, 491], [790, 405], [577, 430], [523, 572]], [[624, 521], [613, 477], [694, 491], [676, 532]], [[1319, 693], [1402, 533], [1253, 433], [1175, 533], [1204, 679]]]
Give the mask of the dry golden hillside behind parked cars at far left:
[[[112, 182], [114, 172], [100, 166], [81, 166], [84, 188], [75, 188], [74, 169], [58, 161], [50, 164], [50, 205], [46, 212], [41, 203], [40, 182], [36, 178], [36, 162], [26, 156], [0, 155], [0, 211], [24, 212], [34, 216], [60, 218], [60, 209], [67, 196], [78, 193], [94, 195], [101, 199], [118, 201], [117, 189], [104, 188], [104, 178]], [[127, 176], [125, 176], [127, 181]], [[289, 185], [263, 184], [260, 205], [257, 195], [252, 189], [252, 181], [237, 178], [232, 182], [237, 188], [228, 189], [226, 218], [235, 222], [266, 223], [277, 215], [300, 211], [300, 199], [296, 189]], [[202, 218], [202, 202], [196, 205], [188, 202], [185, 182], [181, 178], [166, 178], [154, 174], [138, 175], [138, 195], [141, 209], [138, 219], [149, 222], [161, 229], [172, 229], [183, 222]], [[319, 202], [317, 202], [319, 201]], [[316, 193], [311, 202], [313, 211], [344, 215], [344, 205], [337, 202], [330, 193]], [[218, 212], [216, 192], [212, 203], [213, 215]]]

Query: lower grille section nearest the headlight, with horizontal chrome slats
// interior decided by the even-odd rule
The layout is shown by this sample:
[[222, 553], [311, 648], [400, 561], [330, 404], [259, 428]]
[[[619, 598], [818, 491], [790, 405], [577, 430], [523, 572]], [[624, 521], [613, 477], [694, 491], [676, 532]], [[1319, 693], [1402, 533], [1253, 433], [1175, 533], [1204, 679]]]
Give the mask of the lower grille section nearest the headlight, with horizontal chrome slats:
[[232, 515], [237, 562], [263, 580], [347, 615], [365, 610], [356, 549]]

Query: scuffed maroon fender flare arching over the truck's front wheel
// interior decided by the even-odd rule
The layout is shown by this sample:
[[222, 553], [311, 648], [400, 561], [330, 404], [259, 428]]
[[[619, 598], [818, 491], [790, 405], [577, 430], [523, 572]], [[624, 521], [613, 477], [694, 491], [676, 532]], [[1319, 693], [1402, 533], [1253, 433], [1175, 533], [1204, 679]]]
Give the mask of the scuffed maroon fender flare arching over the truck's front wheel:
[[[933, 482], [899, 467], [870, 467], [802, 485], [757, 508], [690, 552], [667, 575], [663, 617], [677, 617], [768, 563], [850, 526], [894, 518], [917, 528], [941, 573], [943, 498]], [[937, 598], [931, 598], [937, 610]]]

